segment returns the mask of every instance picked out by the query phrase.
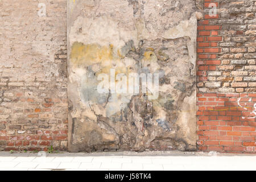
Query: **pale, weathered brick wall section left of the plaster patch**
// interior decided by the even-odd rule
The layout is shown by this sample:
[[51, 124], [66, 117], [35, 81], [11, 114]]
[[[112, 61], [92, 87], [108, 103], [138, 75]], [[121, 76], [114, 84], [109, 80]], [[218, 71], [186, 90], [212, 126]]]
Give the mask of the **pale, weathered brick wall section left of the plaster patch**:
[[0, 1], [0, 150], [67, 148], [66, 1]]

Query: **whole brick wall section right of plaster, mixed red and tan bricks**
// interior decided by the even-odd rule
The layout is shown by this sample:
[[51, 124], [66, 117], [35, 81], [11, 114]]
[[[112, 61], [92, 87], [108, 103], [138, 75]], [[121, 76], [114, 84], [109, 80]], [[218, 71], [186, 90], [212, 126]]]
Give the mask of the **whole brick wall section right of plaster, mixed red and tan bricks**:
[[[256, 0], [205, 0], [197, 37], [197, 145], [256, 152]], [[217, 16], [209, 16], [209, 3]]]

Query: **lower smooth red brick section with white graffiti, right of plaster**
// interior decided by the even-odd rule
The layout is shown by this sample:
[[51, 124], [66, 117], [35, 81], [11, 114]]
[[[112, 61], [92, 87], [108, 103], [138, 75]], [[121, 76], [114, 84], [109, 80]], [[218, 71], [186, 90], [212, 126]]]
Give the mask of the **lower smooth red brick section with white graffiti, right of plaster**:
[[[256, 94], [198, 93], [199, 150], [255, 152]], [[240, 107], [241, 105], [241, 107]]]

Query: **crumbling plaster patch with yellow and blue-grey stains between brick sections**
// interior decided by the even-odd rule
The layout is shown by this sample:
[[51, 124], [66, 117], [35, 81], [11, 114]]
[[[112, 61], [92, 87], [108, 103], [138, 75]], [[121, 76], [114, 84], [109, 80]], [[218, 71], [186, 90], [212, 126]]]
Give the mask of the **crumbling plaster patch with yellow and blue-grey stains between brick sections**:
[[[194, 1], [68, 1], [69, 150], [195, 150]], [[159, 97], [100, 94], [100, 73], [159, 73]]]

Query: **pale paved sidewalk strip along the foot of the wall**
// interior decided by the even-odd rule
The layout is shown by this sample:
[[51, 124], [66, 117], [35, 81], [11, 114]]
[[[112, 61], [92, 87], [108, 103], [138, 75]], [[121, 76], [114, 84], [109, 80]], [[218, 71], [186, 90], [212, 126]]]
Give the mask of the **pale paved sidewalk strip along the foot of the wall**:
[[37, 170], [256, 170], [256, 155], [216, 152], [0, 152], [0, 171]]

